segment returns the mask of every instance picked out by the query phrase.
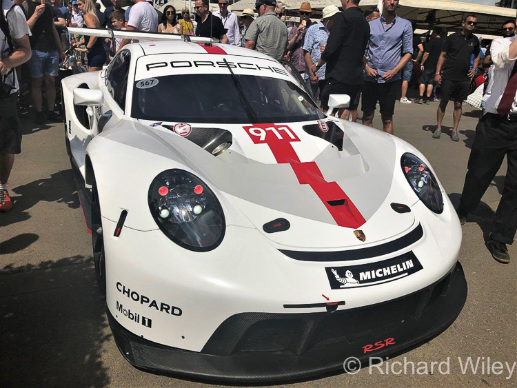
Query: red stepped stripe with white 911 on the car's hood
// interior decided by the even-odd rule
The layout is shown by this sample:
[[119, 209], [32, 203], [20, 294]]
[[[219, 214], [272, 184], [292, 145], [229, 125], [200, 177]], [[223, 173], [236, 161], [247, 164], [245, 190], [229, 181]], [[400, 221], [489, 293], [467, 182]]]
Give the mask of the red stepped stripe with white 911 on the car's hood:
[[[336, 182], [323, 178], [316, 162], [301, 163], [291, 143], [300, 141], [287, 125], [256, 124], [244, 127], [253, 143], [267, 144], [277, 163], [289, 163], [301, 185], [310, 185], [339, 226], [358, 228], [366, 220]], [[343, 205], [332, 206], [327, 201], [345, 200]]]

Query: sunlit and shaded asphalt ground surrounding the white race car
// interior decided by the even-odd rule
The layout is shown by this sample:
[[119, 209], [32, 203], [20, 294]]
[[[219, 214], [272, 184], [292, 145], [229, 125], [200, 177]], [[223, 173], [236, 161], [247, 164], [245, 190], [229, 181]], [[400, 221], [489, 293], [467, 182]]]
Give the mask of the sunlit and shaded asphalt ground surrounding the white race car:
[[[456, 205], [478, 111], [465, 108], [460, 142], [454, 143], [447, 136], [452, 125], [452, 107], [445, 118], [442, 138], [432, 139], [436, 108], [436, 103], [397, 103], [395, 134], [427, 156]], [[0, 385], [210, 384], [149, 374], [135, 369], [121, 356], [108, 327], [103, 296], [95, 283], [90, 234], [85, 230], [65, 152], [63, 124], [35, 127], [29, 119], [23, 119], [22, 125], [23, 153], [17, 157], [10, 178], [14, 208], [0, 214]], [[378, 114], [374, 126], [381, 127]], [[469, 294], [452, 326], [427, 343], [388, 360], [381, 365], [382, 372], [376, 367], [363, 368], [357, 374], [341, 372], [290, 384], [516, 386], [517, 367], [513, 372], [509, 369], [517, 360], [517, 244], [509, 249], [511, 263], [503, 265], [491, 258], [483, 243], [483, 234], [489, 232], [503, 190], [504, 176], [505, 165], [476, 214], [463, 226], [459, 260], [465, 269]], [[469, 358], [474, 366], [477, 363], [476, 371], [462, 370]], [[390, 364], [394, 361], [400, 361], [402, 368]], [[415, 365], [414, 373], [410, 363]], [[434, 364], [432, 370], [432, 363], [442, 363], [441, 369]]]

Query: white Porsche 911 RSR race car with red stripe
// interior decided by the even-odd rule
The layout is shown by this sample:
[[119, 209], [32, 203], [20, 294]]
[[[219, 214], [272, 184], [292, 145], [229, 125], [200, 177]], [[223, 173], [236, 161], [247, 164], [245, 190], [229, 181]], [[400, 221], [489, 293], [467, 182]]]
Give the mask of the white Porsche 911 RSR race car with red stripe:
[[132, 365], [314, 376], [421, 343], [463, 308], [460, 223], [425, 156], [323, 114], [270, 57], [132, 43], [64, 79], [63, 96], [108, 319]]

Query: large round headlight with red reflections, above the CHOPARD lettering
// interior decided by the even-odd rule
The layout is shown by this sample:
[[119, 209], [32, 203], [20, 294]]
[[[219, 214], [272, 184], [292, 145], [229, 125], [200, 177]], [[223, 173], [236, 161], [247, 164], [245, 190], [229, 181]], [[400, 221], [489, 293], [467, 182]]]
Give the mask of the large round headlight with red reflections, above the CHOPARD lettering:
[[149, 187], [149, 209], [161, 231], [174, 243], [196, 252], [216, 248], [225, 234], [221, 204], [197, 176], [167, 170]]

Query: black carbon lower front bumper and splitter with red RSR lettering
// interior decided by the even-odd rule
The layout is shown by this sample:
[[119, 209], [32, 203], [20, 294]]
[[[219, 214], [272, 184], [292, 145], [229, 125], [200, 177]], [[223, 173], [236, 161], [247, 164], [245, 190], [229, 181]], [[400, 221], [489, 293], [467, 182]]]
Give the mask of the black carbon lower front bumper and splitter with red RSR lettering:
[[420, 343], [451, 325], [466, 298], [465, 274], [457, 263], [439, 282], [385, 303], [333, 313], [235, 314], [201, 352], [140, 338], [109, 311], [108, 320], [116, 345], [136, 367], [211, 380], [278, 381], [342, 369], [350, 356], [365, 363]]

